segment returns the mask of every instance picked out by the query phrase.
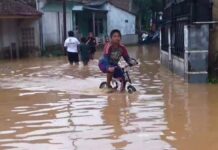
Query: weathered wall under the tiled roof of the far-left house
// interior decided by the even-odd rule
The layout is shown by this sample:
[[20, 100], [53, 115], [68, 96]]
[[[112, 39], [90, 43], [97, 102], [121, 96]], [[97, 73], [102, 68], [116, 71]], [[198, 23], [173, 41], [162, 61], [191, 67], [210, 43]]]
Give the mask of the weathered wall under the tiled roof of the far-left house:
[[[22, 29], [34, 28], [34, 48], [23, 51], [22, 48]], [[13, 51], [13, 56], [30, 56], [38, 55], [40, 49], [40, 35], [39, 24], [37, 19], [1, 19], [0, 20], [0, 58], [9, 58], [12, 43], [15, 43], [14, 47], [19, 50], [19, 53]], [[15, 50], [13, 48], [13, 50]], [[22, 55], [20, 55], [22, 54]]]

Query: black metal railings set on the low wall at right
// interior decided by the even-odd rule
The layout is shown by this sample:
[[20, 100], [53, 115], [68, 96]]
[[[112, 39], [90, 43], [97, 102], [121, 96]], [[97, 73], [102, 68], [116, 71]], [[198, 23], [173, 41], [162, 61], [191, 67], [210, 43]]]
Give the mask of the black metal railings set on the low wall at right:
[[[172, 54], [184, 58], [184, 26], [210, 19], [209, 0], [165, 1], [164, 24], [161, 29], [162, 50], [168, 51], [168, 36], [170, 36]], [[168, 35], [168, 29], [170, 29], [170, 35]]]

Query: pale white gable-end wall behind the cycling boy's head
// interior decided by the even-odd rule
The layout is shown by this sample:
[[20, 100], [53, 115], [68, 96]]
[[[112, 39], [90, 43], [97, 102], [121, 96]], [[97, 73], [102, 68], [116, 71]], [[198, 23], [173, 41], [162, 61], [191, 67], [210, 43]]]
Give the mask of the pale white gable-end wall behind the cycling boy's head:
[[[106, 4], [107, 13], [107, 32], [110, 34], [111, 30], [119, 29], [123, 35], [135, 34], [136, 16], [119, 9], [111, 4]], [[125, 21], [128, 20], [128, 23]]]

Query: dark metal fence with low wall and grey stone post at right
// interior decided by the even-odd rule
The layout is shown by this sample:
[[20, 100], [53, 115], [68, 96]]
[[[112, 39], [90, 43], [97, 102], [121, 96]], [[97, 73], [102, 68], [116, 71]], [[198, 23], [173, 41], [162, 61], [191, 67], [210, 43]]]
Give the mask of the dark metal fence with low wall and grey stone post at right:
[[208, 82], [209, 0], [165, 0], [161, 63], [189, 83]]

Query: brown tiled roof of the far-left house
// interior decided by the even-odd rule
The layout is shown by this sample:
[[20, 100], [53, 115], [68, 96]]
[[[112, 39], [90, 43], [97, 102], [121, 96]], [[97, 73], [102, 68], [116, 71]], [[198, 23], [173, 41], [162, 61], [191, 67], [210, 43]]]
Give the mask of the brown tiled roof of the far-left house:
[[34, 18], [41, 12], [20, 0], [0, 0], [0, 18]]

